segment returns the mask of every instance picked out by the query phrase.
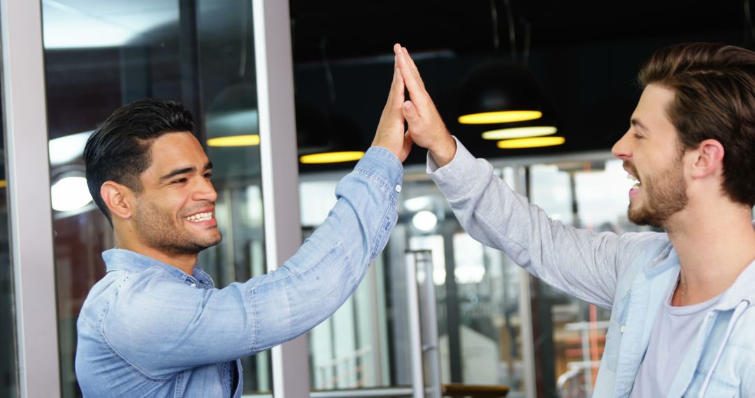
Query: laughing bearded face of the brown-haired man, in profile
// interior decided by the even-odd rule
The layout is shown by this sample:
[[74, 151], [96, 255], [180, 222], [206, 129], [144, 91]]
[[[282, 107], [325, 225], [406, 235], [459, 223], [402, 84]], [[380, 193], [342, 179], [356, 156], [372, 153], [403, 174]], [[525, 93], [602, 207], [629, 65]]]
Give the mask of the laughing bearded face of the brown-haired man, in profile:
[[683, 151], [666, 115], [674, 93], [649, 84], [632, 114], [630, 128], [612, 152], [636, 184], [630, 189], [627, 215], [639, 225], [664, 227], [688, 202]]

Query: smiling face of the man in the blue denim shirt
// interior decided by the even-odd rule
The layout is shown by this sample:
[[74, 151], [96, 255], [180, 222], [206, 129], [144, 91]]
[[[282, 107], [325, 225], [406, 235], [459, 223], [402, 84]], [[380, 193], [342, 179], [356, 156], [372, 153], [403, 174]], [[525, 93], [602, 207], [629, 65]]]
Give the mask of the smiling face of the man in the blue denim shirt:
[[191, 133], [155, 139], [140, 176], [133, 227], [140, 244], [168, 256], [194, 255], [220, 243], [212, 164]]

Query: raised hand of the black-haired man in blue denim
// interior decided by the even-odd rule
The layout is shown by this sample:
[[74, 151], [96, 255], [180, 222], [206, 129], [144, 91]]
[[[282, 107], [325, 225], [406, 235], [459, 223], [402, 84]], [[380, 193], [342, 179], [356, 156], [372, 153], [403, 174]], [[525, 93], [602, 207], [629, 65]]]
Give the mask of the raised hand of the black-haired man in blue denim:
[[404, 133], [404, 80], [397, 65], [393, 67], [393, 82], [390, 84], [388, 101], [385, 103], [372, 146], [387, 148], [399, 161], [405, 161], [411, 150], [411, 137]]

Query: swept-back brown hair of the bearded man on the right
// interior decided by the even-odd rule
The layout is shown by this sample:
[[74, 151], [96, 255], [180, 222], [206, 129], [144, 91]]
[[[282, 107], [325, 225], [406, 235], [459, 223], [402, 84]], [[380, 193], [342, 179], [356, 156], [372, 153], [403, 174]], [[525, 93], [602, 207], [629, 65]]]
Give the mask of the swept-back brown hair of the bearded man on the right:
[[723, 145], [723, 191], [755, 205], [755, 53], [717, 43], [662, 48], [637, 75], [639, 84], [674, 92], [667, 115], [684, 150], [705, 139]]

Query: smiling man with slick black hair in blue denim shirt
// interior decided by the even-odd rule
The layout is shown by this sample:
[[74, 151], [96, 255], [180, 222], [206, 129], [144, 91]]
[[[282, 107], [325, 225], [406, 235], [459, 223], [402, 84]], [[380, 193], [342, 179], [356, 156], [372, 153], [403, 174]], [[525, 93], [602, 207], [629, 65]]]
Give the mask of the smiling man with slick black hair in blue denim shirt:
[[403, 82], [337, 204], [276, 271], [215, 289], [197, 254], [220, 242], [212, 163], [177, 103], [114, 112], [85, 148], [87, 179], [116, 249], [79, 315], [75, 369], [85, 396], [241, 396], [239, 358], [307, 332], [336, 311], [396, 224]]

